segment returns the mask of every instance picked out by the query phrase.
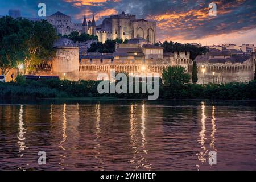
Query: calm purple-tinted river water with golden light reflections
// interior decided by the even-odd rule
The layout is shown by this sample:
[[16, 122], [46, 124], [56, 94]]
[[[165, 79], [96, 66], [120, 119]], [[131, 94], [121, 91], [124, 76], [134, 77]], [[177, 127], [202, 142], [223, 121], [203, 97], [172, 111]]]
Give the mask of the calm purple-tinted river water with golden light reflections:
[[1, 170], [256, 170], [255, 102], [1, 103]]

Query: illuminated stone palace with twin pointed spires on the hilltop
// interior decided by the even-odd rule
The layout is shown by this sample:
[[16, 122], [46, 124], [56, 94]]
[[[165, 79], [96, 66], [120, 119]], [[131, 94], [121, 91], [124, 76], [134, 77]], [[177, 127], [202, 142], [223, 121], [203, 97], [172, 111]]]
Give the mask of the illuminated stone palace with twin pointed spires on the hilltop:
[[129, 40], [132, 38], [143, 38], [148, 42], [156, 43], [156, 22], [150, 22], [145, 19], [136, 19], [136, 15], [125, 14], [123, 11], [119, 15], [111, 15], [102, 21], [102, 24], [96, 25], [93, 19], [87, 22], [86, 16], [82, 23], [73, 23], [71, 16], [57, 12], [47, 16], [49, 23], [56, 28], [58, 34], [69, 35], [73, 31], [97, 35], [100, 42], [107, 39], [116, 38]]

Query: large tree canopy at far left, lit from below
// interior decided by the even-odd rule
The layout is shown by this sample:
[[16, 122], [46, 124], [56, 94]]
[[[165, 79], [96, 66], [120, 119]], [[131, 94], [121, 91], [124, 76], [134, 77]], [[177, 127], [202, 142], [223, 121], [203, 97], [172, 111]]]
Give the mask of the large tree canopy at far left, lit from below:
[[35, 65], [54, 57], [55, 29], [47, 20], [0, 18], [0, 68], [7, 74], [11, 68], [24, 64], [23, 73], [30, 73]]

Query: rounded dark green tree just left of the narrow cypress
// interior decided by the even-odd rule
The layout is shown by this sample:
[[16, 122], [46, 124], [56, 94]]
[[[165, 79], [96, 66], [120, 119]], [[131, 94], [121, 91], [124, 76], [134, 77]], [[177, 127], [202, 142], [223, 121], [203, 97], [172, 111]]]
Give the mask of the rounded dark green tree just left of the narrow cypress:
[[162, 71], [162, 80], [167, 88], [179, 88], [189, 82], [190, 75], [186, 73], [184, 67], [170, 66]]

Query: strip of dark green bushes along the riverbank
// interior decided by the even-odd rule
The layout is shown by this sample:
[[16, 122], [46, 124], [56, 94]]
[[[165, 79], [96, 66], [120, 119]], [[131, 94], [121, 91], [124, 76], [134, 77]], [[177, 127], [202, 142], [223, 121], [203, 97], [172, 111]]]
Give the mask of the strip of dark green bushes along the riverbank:
[[[152, 94], [100, 94], [100, 81], [40, 80], [0, 83], [1, 99], [115, 97], [147, 99]], [[153, 84], [154, 85], [154, 84]], [[141, 87], [140, 87], [141, 88]], [[141, 93], [141, 91], [140, 91]], [[256, 81], [228, 84], [159, 83], [159, 99], [255, 100]]]

